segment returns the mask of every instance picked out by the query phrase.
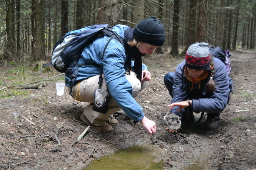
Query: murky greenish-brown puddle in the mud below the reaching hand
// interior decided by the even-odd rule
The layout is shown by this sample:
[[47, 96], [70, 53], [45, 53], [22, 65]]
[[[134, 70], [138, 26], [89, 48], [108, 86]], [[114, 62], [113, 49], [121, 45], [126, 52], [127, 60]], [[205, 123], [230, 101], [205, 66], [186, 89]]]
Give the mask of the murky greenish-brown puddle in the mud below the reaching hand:
[[92, 161], [90, 166], [82, 170], [115, 170], [115, 169], [148, 169], [162, 170], [164, 162], [160, 159], [160, 150], [152, 145], [133, 146], [119, 150], [114, 154]]

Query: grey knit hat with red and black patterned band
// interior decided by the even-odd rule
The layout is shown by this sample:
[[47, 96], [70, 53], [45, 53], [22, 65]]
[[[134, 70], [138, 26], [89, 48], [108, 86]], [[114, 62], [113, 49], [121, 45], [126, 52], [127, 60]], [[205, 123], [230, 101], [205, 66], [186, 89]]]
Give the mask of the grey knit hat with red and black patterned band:
[[185, 56], [185, 66], [196, 70], [210, 70], [208, 43], [195, 43], [189, 46]]

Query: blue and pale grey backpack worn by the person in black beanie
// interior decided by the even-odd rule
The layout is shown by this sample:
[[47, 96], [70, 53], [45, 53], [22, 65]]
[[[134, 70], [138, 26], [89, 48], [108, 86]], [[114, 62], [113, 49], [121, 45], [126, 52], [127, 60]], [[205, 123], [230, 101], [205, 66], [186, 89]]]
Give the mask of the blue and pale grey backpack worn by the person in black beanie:
[[[117, 33], [115, 33], [112, 30], [112, 27], [108, 26], [108, 24], [88, 26], [68, 32], [61, 37], [53, 47], [51, 62], [42, 67], [53, 66], [53, 68], [58, 72], [66, 73], [66, 76], [71, 80], [70, 89], [72, 90], [75, 79], [78, 75], [78, 66], [94, 65], [99, 68], [101, 67], [98, 64], [91, 63], [77, 64], [77, 61], [85, 46], [104, 33], [111, 37], [108, 43], [112, 39], [116, 39], [125, 48], [123, 38], [117, 35]], [[104, 56], [108, 43], [104, 48], [102, 56]], [[71, 94], [71, 91], [69, 94]]]

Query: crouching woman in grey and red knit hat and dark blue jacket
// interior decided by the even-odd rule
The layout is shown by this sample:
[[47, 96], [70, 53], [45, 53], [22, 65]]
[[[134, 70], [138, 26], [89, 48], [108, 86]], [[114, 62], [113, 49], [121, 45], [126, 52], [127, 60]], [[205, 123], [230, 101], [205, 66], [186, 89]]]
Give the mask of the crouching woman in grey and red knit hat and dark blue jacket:
[[[193, 123], [193, 112], [207, 112], [201, 128], [214, 129], [220, 123], [220, 112], [229, 102], [233, 81], [224, 63], [210, 56], [208, 46], [204, 42], [189, 46], [175, 73], [164, 76], [164, 84], [172, 96], [170, 113], [178, 115], [182, 122]], [[170, 133], [174, 131], [177, 132], [174, 129]]]

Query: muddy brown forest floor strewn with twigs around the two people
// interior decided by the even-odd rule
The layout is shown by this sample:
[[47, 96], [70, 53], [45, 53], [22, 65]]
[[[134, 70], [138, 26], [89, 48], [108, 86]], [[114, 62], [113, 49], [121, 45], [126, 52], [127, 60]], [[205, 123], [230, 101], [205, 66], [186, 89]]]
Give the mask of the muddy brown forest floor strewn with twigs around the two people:
[[[231, 54], [234, 91], [221, 113], [220, 126], [203, 131], [183, 125], [176, 134], [166, 133], [163, 124], [171, 102], [163, 78], [183, 57], [172, 58], [165, 53], [144, 58], [152, 80], [136, 100], [146, 117], [156, 122], [155, 134], [149, 135], [140, 123], [134, 124], [123, 113], [114, 115], [119, 123], [111, 133], [90, 128], [79, 142], [78, 136], [87, 127], [80, 114], [88, 103], [77, 104], [66, 87], [64, 96], [56, 95], [55, 83], [64, 82], [63, 75], [49, 79], [59, 73], [27, 71], [26, 79], [49, 80], [40, 82], [45, 84], [38, 89], [0, 91], [0, 169], [82, 169], [102, 156], [140, 145], [158, 148], [162, 169], [256, 169], [256, 53], [238, 49]], [[0, 67], [0, 89], [14, 82], [10, 77], [16, 74], [11, 69]], [[195, 121], [199, 117], [195, 114]], [[106, 165], [104, 169], [118, 167]]]

